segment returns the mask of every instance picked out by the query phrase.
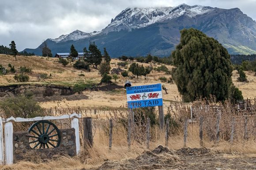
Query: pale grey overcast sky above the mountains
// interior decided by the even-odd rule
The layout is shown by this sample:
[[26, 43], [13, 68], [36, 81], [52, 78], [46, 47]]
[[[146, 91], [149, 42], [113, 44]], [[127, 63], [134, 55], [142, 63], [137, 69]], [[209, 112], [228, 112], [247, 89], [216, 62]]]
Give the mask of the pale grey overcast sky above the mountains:
[[0, 45], [14, 40], [18, 51], [36, 48], [47, 38], [76, 29], [105, 28], [127, 7], [175, 7], [179, 4], [230, 9], [238, 7], [256, 20], [256, 0], [0, 0]]

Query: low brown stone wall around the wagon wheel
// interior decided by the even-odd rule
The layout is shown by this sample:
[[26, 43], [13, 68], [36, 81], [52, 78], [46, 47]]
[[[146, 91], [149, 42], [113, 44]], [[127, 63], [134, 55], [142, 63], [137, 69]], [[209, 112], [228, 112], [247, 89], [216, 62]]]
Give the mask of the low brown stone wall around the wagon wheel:
[[14, 163], [26, 159], [27, 156], [40, 156], [41, 159], [56, 158], [58, 155], [76, 155], [75, 129], [60, 129], [60, 145], [57, 148], [31, 149], [28, 131], [13, 132]]

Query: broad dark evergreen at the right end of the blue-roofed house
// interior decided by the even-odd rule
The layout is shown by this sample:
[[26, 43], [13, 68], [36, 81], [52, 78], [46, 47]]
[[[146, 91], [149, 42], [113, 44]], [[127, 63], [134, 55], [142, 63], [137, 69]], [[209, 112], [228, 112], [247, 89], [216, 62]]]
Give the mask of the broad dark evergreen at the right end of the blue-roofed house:
[[[86, 49], [85, 49], [86, 50]], [[85, 61], [87, 61], [88, 63], [90, 63], [94, 69], [98, 69], [98, 65], [101, 64], [102, 62], [102, 53], [101, 51], [98, 49], [98, 47], [96, 46], [95, 43], [90, 43], [89, 45], [89, 51], [85, 51], [88, 55], [85, 55]]]

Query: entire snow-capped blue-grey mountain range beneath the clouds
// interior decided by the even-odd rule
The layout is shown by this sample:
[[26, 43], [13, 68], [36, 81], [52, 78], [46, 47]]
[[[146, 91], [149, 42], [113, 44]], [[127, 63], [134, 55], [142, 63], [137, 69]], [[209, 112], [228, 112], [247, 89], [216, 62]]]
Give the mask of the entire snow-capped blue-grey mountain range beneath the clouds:
[[[169, 56], [180, 42], [180, 30], [195, 28], [222, 43], [230, 54], [256, 54], [256, 22], [239, 8], [221, 9], [181, 4], [177, 7], [126, 8], [102, 31], [76, 30], [56, 39], [47, 39], [52, 53], [69, 52], [73, 44], [83, 51], [95, 42], [111, 57], [121, 55]], [[25, 49], [41, 55], [41, 46]]]

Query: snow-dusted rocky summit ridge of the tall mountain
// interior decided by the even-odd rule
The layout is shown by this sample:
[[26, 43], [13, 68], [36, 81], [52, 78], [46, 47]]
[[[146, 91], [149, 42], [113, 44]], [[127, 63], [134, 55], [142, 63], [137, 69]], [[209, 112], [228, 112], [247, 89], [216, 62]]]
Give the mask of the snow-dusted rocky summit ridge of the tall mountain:
[[104, 32], [120, 31], [121, 29], [143, 28], [166, 19], [177, 18], [181, 15], [194, 17], [213, 10], [213, 7], [200, 5], [189, 6], [181, 4], [177, 7], [148, 7], [148, 8], [126, 8], [104, 29]]

